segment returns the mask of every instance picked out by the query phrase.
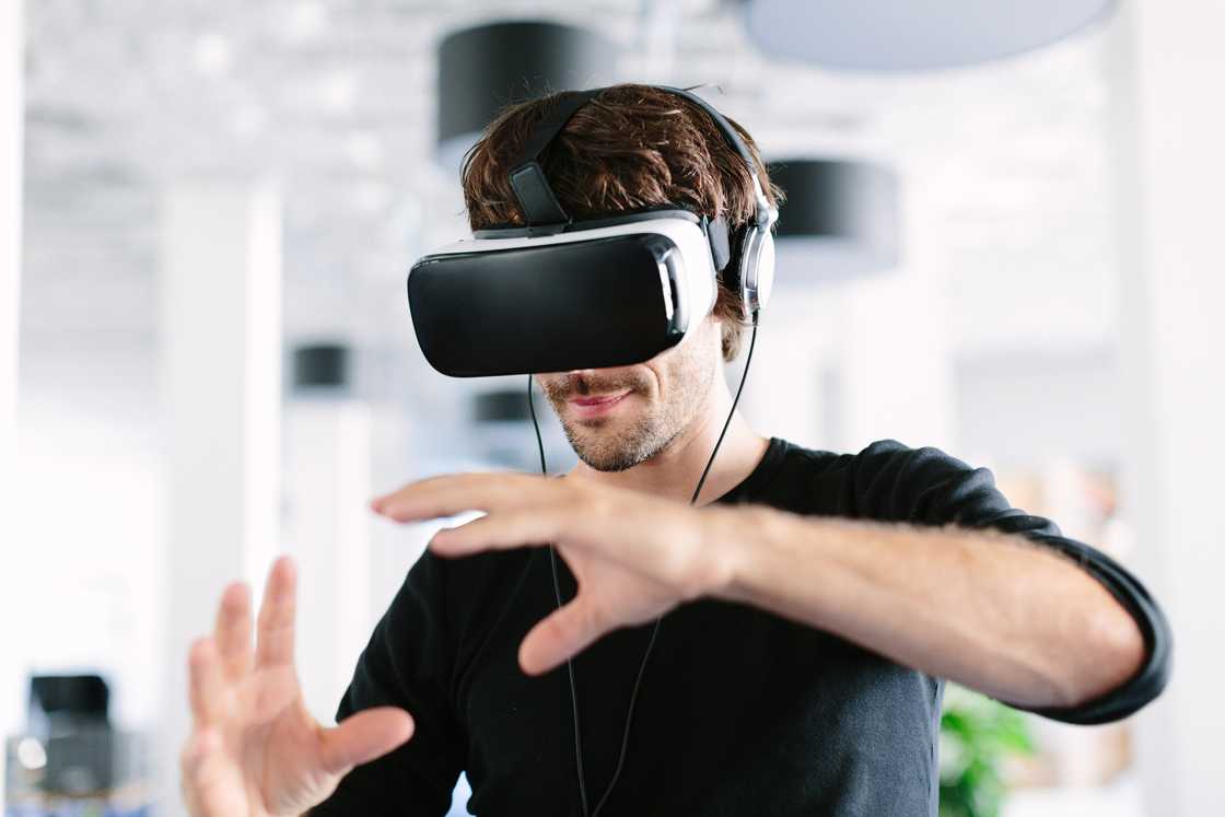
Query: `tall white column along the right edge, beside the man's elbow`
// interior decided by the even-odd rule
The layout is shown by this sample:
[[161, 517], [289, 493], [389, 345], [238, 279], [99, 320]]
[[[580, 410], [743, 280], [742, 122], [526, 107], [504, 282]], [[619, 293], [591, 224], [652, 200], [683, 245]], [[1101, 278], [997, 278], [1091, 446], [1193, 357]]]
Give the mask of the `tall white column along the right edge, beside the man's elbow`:
[[1225, 5], [1121, 4], [1112, 36], [1122, 511], [1170, 616], [1172, 682], [1137, 720], [1147, 813], [1225, 810]]

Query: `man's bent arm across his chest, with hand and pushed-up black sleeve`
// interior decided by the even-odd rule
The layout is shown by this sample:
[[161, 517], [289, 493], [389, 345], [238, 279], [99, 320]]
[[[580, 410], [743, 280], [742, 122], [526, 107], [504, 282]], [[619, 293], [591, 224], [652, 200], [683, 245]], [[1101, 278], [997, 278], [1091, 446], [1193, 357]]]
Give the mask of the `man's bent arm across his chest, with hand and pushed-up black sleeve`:
[[435, 535], [430, 549], [446, 557], [555, 543], [579, 592], [524, 638], [529, 674], [610, 630], [713, 595], [1056, 720], [1117, 720], [1164, 688], [1172, 639], [1143, 584], [1054, 522], [1011, 507], [990, 470], [882, 441], [812, 472], [796, 507], [821, 496], [822, 516], [695, 510], [522, 474], [431, 478], [372, 507], [398, 522], [485, 511]]

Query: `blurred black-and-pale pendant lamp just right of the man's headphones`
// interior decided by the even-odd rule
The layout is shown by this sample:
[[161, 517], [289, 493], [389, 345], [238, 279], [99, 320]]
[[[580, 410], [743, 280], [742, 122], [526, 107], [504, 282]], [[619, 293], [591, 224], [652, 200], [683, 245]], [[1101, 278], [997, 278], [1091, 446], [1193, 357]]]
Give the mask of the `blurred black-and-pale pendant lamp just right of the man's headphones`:
[[775, 233], [775, 285], [826, 284], [898, 263], [898, 178], [871, 162], [778, 159], [771, 181], [786, 194]]

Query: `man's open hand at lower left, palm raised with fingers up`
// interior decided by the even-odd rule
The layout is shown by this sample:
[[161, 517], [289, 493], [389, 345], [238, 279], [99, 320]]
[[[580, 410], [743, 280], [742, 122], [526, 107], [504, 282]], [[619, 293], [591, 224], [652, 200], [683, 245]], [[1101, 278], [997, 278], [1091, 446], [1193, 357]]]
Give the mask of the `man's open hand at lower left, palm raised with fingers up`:
[[354, 766], [413, 734], [403, 709], [360, 712], [333, 729], [306, 710], [294, 668], [295, 570], [268, 573], [252, 648], [251, 597], [229, 585], [212, 636], [191, 648], [195, 721], [181, 756], [183, 794], [196, 817], [301, 815], [323, 801]]

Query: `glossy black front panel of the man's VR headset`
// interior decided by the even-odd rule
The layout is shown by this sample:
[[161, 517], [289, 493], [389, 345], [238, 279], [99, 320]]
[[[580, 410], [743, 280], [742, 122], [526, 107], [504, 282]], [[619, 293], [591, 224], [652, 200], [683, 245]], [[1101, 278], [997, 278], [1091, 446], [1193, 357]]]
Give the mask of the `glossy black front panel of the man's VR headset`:
[[408, 278], [413, 327], [454, 377], [642, 363], [684, 336], [680, 263], [658, 234], [426, 256]]

